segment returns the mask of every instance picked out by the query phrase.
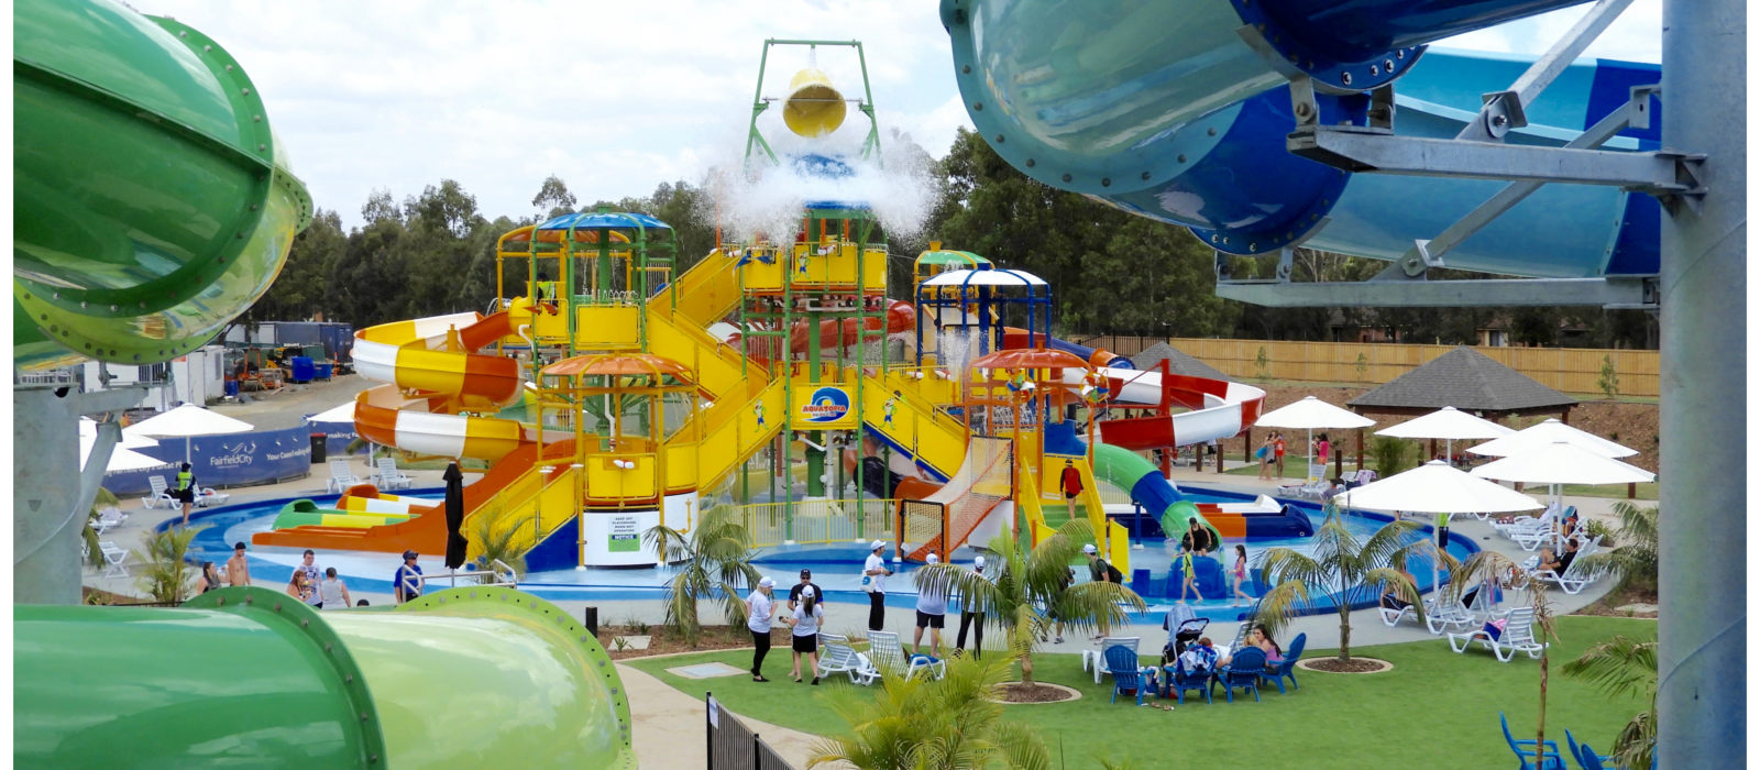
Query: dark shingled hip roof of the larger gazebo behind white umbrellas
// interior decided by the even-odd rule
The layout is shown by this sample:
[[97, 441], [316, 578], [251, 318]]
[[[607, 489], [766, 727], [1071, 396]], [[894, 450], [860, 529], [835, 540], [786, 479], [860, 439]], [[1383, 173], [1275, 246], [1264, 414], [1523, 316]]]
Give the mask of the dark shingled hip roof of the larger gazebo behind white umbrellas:
[[1346, 403], [1364, 410], [1559, 411], [1577, 399], [1468, 346], [1454, 348]]

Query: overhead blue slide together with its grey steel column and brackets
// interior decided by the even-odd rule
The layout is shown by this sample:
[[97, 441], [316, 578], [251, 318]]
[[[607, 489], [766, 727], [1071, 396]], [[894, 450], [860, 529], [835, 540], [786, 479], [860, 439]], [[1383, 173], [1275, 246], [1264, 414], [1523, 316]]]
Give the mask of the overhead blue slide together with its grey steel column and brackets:
[[[1542, 56], [1429, 49], [1586, 5]], [[1630, 0], [942, 0], [979, 135], [1021, 172], [1190, 227], [1223, 297], [1281, 306], [1668, 308], [1661, 766], [1739, 763], [1746, 7], [1663, 0], [1661, 67], [1579, 58]], [[1667, 105], [1667, 111], [1663, 109]], [[1389, 260], [1294, 280], [1294, 246]], [[1232, 255], [1278, 253], [1272, 278]], [[1433, 280], [1434, 267], [1494, 276]], [[1712, 554], [1700, 548], [1714, 543]], [[1700, 564], [1720, 564], [1702, 570]], [[1732, 626], [1732, 619], [1735, 624]]]

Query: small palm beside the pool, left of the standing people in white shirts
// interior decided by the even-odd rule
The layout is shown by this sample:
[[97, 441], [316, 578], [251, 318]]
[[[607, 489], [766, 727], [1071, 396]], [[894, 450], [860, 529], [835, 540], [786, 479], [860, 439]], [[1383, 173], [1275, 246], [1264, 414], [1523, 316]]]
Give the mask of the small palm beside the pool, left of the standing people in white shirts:
[[737, 508], [715, 506], [702, 512], [690, 534], [656, 524], [642, 533], [642, 540], [667, 564], [676, 564], [678, 573], [665, 585], [665, 622], [685, 642], [695, 647], [702, 635], [699, 599], [720, 599], [722, 617], [729, 626], [746, 622], [746, 603], [739, 589], [757, 585], [759, 570], [752, 566], [757, 550], [752, 548], [752, 533]]

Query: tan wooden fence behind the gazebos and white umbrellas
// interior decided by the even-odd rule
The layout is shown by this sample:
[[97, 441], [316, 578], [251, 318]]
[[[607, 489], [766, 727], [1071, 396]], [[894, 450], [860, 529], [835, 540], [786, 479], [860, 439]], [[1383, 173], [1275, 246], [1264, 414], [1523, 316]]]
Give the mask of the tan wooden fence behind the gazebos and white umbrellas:
[[[1137, 355], [1167, 343], [1223, 374], [1244, 381], [1257, 378], [1324, 381], [1375, 387], [1397, 378], [1454, 345], [1403, 343], [1280, 343], [1265, 339], [1133, 338], [1102, 334], [1079, 338], [1082, 345]], [[1566, 394], [1602, 397], [1602, 367], [1612, 362], [1617, 396], [1661, 396], [1661, 357], [1656, 350], [1603, 348], [1487, 348], [1473, 346], [1510, 369]]]

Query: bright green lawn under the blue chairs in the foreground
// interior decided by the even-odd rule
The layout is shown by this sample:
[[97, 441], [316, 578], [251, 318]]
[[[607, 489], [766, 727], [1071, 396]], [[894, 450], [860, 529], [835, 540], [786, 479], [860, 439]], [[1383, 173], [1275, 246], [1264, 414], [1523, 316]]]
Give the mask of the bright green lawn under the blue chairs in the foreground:
[[[1600, 751], [1612, 747], [1619, 728], [1639, 712], [1639, 701], [1610, 700], [1588, 684], [1558, 673], [1559, 666], [1591, 643], [1614, 635], [1656, 636], [1654, 621], [1623, 617], [1563, 617], [1552, 650], [1547, 737], [1565, 745], [1565, 728]], [[1158, 642], [1158, 640], [1156, 640]], [[1517, 657], [1498, 663], [1489, 652], [1454, 654], [1443, 638], [1353, 650], [1394, 663], [1376, 675], [1299, 672], [1302, 689], [1260, 703], [1251, 696], [1234, 703], [1186, 700], [1174, 712], [1107, 703], [1111, 684], [1093, 684], [1074, 654], [1037, 656], [1038, 679], [1082, 691], [1061, 705], [1008, 707], [1008, 717], [1037, 728], [1052, 756], [1068, 768], [1098, 768], [1100, 758], [1130, 759], [1139, 768], [1202, 765], [1214, 768], [1364, 768], [1364, 766], [1508, 766], [1510, 749], [1498, 731], [1498, 710], [1510, 717], [1517, 737], [1533, 735], [1538, 712], [1540, 663]], [[1325, 654], [1325, 650], [1320, 650]], [[847, 679], [808, 687], [783, 679], [788, 650], [776, 649], [764, 668], [769, 684], [750, 677], [690, 680], [665, 668], [725, 661], [750, 668], [750, 650], [704, 652], [630, 661], [702, 698], [704, 691], [737, 714], [808, 733], [843, 728], [820, 698]], [[1111, 680], [1109, 680], [1111, 682]], [[1060, 749], [1061, 745], [1061, 749]]]

